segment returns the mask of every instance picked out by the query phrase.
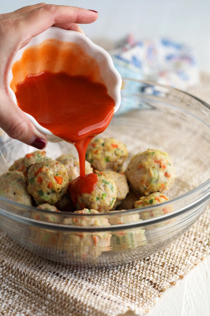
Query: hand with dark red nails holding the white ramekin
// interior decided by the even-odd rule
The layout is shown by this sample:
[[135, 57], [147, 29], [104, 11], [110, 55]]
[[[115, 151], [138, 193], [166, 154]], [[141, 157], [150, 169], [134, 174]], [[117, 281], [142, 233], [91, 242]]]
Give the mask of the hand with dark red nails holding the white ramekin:
[[97, 17], [93, 10], [45, 3], [0, 14], [0, 127], [10, 137], [37, 149], [47, 145], [46, 135], [35, 128], [9, 94], [8, 74], [16, 52], [51, 26], [83, 33], [77, 23], [92, 23]]

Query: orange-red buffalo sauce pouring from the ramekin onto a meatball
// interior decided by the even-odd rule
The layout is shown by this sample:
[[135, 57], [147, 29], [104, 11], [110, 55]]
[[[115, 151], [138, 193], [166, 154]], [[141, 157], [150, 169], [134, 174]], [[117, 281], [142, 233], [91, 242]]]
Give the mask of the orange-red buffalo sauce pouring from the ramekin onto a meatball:
[[[26, 63], [32, 49], [34, 48], [29, 47], [26, 50]], [[49, 46], [49, 50], [53, 58], [52, 46]], [[84, 56], [81, 54], [80, 52], [79, 55], [74, 54], [69, 58], [83, 60]], [[75, 63], [78, 64], [78, 60], [75, 60]], [[114, 100], [107, 94], [106, 86], [93, 80], [93, 69], [94, 67], [91, 74], [86, 72], [85, 75], [72, 75], [69, 71], [66, 73], [63, 70], [44, 70], [39, 74], [26, 76], [14, 89], [18, 106], [24, 112], [31, 114], [41, 126], [54, 135], [75, 145], [79, 155], [80, 177], [77, 184], [75, 181], [74, 184], [75, 190], [80, 194], [91, 192], [98, 179], [94, 174], [85, 175], [85, 153], [88, 143], [109, 125], [115, 106]], [[97, 65], [95, 69], [97, 73]], [[76, 196], [75, 190], [72, 190]]]

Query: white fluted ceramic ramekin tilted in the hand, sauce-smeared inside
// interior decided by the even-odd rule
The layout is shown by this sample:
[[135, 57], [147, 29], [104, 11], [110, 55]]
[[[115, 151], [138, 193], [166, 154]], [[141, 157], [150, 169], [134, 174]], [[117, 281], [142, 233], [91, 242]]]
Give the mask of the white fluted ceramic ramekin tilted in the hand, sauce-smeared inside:
[[[76, 43], [78, 44], [82, 51], [84, 51], [87, 55], [89, 55], [91, 58], [93, 58], [98, 66], [99, 66], [99, 73], [97, 74], [96, 81], [104, 83], [105, 86], [107, 87], [107, 93], [112, 97], [112, 99], [115, 101], [115, 112], [118, 110], [120, 103], [121, 103], [121, 86], [122, 86], [122, 79], [118, 71], [115, 69], [111, 56], [106, 52], [103, 48], [100, 46], [94, 44], [90, 39], [88, 39], [87, 36], [83, 35], [82, 33], [76, 32], [76, 31], [69, 31], [69, 30], [64, 30], [59, 27], [50, 27], [47, 29], [45, 32], [33, 37], [31, 41], [23, 48], [21, 48], [15, 58], [14, 62], [18, 61], [21, 59], [23, 52], [29, 47], [29, 46], [34, 46], [34, 45], [42, 45], [43, 41], [48, 40], [48, 39], [55, 39], [55, 40], [60, 40], [62, 42], [67, 42], [67, 43]], [[40, 54], [41, 55], [41, 54]], [[53, 60], [53, 69], [48, 69], [51, 71], [59, 72], [65, 70], [65, 61], [62, 62], [62, 56], [58, 55], [59, 60]], [[31, 61], [31, 64], [27, 67], [22, 67], [20, 71], [20, 76], [16, 79], [13, 76], [12, 69], [9, 72], [9, 84], [11, 83], [12, 80], [14, 80], [15, 83], [20, 83], [17, 82], [20, 77], [24, 78], [25, 80], [27, 75], [30, 74], [38, 74], [42, 72], [43, 70], [46, 70], [46, 67], [48, 65], [45, 62], [45, 59], [43, 58], [43, 55], [41, 55], [41, 58], [38, 58], [38, 61], [36, 61], [36, 65], [33, 65], [34, 61]], [[14, 64], [14, 63], [13, 63]], [[92, 67], [91, 64], [91, 59], [87, 61], [87, 69]], [[27, 69], [28, 68], [28, 69]], [[29, 70], [30, 69], [30, 70]], [[31, 73], [31, 70], [33, 69], [33, 73]], [[80, 71], [80, 70], [79, 70]], [[83, 70], [81, 70], [83, 71]], [[78, 73], [77, 75], [83, 75], [83, 73]], [[12, 99], [14, 100], [15, 103], [16, 97], [14, 94], [14, 91], [10, 89], [10, 93], [12, 96]], [[59, 142], [62, 139], [59, 137], [55, 136], [52, 134], [48, 129], [42, 127], [37, 123], [37, 121], [29, 114], [26, 113], [28, 118], [32, 121], [32, 123], [36, 126], [36, 128], [41, 131], [43, 134], [46, 134], [48, 137], [48, 141], [50, 142]]]

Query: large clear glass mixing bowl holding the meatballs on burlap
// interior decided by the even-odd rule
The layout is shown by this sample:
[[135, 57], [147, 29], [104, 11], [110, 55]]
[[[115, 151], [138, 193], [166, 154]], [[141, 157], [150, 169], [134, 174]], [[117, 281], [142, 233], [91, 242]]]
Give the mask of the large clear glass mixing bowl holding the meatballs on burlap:
[[[184, 234], [210, 198], [210, 106], [179, 90], [123, 79], [122, 103], [99, 137], [139, 151], [167, 152], [176, 179], [165, 194], [170, 201], [97, 215], [37, 210], [0, 196], [0, 228], [31, 252], [75, 265], [116, 265], [145, 258]], [[34, 148], [13, 139], [1, 143], [0, 172]], [[48, 143], [47, 156], [71, 152], [72, 144]], [[126, 164], [125, 164], [126, 167]], [[166, 208], [167, 214], [162, 209]], [[163, 214], [163, 215], [162, 215]], [[145, 219], [141, 219], [145, 218]]]

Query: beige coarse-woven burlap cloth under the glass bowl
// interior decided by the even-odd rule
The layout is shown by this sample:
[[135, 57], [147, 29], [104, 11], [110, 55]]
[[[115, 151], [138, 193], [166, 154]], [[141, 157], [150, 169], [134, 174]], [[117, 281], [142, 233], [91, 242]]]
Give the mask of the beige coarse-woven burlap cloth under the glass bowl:
[[[210, 76], [201, 74], [200, 85], [188, 91], [210, 103]], [[132, 310], [143, 315], [209, 253], [210, 208], [165, 250], [110, 268], [50, 262], [0, 232], [0, 314], [114, 316]]]

